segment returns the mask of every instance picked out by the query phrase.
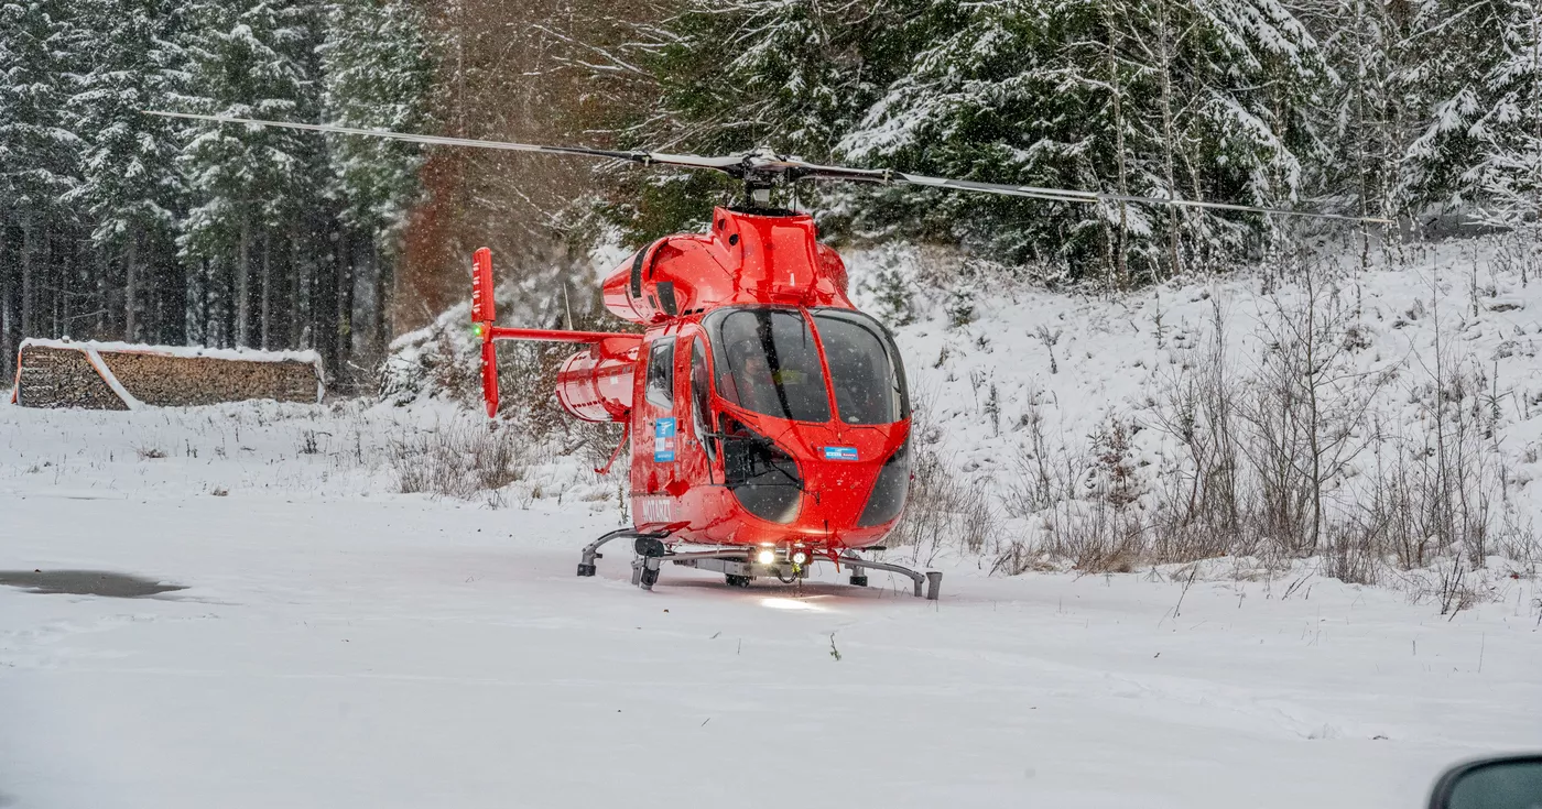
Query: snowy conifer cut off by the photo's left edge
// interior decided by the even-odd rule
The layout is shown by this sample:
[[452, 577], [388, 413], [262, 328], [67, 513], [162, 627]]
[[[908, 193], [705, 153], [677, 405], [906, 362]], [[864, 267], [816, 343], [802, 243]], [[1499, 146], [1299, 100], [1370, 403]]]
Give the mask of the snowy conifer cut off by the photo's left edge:
[[72, 319], [71, 299], [45, 288], [62, 280], [76, 228], [60, 199], [80, 182], [79, 139], [65, 112], [77, 45], [66, 2], [0, 0], [0, 364], [6, 368], [20, 337], [59, 334]]

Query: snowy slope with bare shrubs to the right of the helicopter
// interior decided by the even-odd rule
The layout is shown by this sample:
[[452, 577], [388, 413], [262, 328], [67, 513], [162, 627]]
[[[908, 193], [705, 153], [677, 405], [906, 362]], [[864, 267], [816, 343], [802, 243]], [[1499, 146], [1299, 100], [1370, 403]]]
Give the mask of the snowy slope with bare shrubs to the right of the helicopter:
[[862, 305], [904, 324], [917, 435], [947, 472], [933, 493], [968, 516], [913, 539], [1007, 572], [1241, 556], [1231, 573], [1308, 559], [1419, 589], [1406, 570], [1439, 569], [1468, 599], [1534, 576], [1537, 259], [1499, 242], [1377, 259], [1107, 296], [859, 254]]

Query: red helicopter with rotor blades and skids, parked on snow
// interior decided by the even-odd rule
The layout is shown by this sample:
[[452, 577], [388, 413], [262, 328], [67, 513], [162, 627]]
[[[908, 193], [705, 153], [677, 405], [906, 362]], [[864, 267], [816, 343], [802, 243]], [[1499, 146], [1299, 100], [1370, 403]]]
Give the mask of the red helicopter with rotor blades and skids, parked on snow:
[[[148, 112], [148, 111], [146, 111]], [[418, 143], [577, 154], [711, 170], [745, 183], [745, 203], [715, 208], [706, 233], [666, 236], [603, 284], [604, 305], [641, 334], [493, 325], [492, 253], [473, 257], [472, 321], [483, 341], [487, 415], [498, 411], [495, 341], [589, 344], [557, 374], [572, 416], [620, 422], [631, 445], [632, 527], [583, 549], [632, 539], [632, 584], [652, 589], [663, 562], [715, 570], [729, 586], [797, 582], [814, 561], [908, 576], [936, 599], [942, 573], [860, 556], [899, 522], [910, 488], [910, 396], [894, 339], [847, 296], [840, 256], [808, 214], [774, 208], [773, 188], [803, 179], [911, 183], [1056, 202], [1160, 203], [1388, 223], [1337, 214], [996, 185], [887, 170], [816, 165], [769, 149], [726, 157], [540, 146], [224, 116], [150, 112]], [[629, 441], [628, 441], [629, 439]], [[609, 468], [609, 465], [606, 467]]]

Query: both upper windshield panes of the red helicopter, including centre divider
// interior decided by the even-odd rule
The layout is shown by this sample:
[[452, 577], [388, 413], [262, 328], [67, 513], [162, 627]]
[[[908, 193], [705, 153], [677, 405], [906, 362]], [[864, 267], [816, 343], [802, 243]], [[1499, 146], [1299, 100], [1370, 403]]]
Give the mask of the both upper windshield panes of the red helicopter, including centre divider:
[[[853, 310], [816, 310], [819, 339], [845, 424], [894, 424], [910, 416], [899, 351], [876, 321]], [[803, 313], [736, 308], [708, 321], [717, 393], [752, 413], [791, 421], [831, 418], [825, 365]]]

